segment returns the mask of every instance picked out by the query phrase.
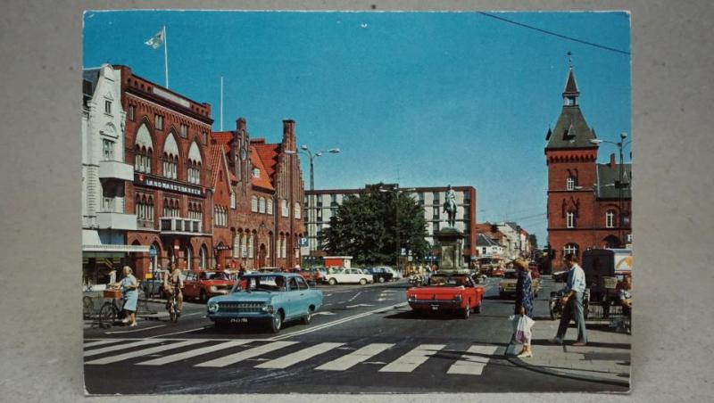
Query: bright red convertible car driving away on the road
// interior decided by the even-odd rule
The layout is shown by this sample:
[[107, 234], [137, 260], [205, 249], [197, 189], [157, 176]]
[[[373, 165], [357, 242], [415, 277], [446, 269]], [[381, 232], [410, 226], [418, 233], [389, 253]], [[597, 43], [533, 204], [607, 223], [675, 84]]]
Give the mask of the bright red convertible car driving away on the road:
[[407, 290], [407, 301], [415, 312], [458, 312], [468, 319], [471, 310], [481, 313], [484, 288], [474, 284], [469, 274], [439, 273], [428, 285]]

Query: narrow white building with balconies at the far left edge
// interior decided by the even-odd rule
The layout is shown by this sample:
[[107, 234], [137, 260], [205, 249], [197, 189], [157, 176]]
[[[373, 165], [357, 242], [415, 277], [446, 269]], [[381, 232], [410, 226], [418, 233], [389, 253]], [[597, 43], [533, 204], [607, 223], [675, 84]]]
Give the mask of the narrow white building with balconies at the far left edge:
[[82, 267], [92, 284], [110, 267], [119, 268], [128, 252], [148, 251], [126, 244], [137, 216], [124, 212], [125, 182], [134, 180], [134, 168], [124, 162], [120, 94], [120, 72], [112, 66], [83, 71]]

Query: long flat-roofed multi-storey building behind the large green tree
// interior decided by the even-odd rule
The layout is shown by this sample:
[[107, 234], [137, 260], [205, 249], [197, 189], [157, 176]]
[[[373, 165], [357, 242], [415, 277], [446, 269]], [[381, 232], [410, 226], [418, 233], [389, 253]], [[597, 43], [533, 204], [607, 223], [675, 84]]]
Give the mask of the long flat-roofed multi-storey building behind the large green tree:
[[[386, 185], [394, 186], [394, 185]], [[476, 257], [476, 189], [473, 186], [452, 186], [456, 193], [456, 228], [466, 235], [463, 254], [469, 261]], [[320, 235], [329, 226], [329, 219], [336, 215], [337, 207], [342, 205], [346, 196], [358, 195], [365, 189], [325, 189], [307, 191], [305, 210], [307, 245], [302, 248], [303, 256], [321, 256]], [[445, 226], [447, 215], [444, 212], [446, 187], [416, 187], [403, 189], [412, 199], [424, 207], [427, 221], [428, 243], [434, 245], [434, 233]]]

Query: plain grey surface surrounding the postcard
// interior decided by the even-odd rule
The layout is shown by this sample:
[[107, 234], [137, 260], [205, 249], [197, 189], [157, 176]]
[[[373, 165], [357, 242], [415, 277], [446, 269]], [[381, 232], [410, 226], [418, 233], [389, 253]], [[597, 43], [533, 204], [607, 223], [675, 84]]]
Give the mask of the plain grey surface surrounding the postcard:
[[[49, 2], [0, 10], [0, 400], [84, 399], [79, 304], [81, 12], [90, 8], [630, 10], [635, 293], [630, 396], [371, 395], [343, 401], [707, 401], [714, 395], [711, 2]], [[557, 27], [552, 27], [557, 31]], [[602, 27], [607, 29], [607, 27]], [[544, 167], [545, 169], [545, 167]], [[476, 184], [477, 185], [477, 184]], [[311, 382], [305, 379], [305, 382]], [[101, 399], [101, 400], [100, 400]], [[145, 401], [147, 397], [87, 398]], [[152, 401], [223, 401], [164, 396]], [[336, 396], [248, 395], [243, 401]]]

